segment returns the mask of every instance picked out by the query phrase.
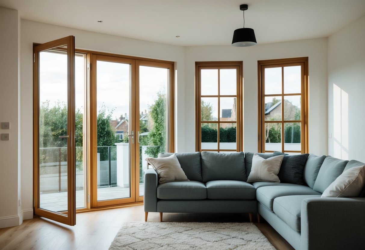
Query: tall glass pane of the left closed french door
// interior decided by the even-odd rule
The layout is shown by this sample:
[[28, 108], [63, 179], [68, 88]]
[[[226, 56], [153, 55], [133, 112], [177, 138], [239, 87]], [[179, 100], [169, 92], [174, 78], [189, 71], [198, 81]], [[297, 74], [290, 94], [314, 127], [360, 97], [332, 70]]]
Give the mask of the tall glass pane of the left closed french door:
[[97, 61], [97, 200], [130, 197], [129, 147], [115, 136], [128, 134], [130, 67]]

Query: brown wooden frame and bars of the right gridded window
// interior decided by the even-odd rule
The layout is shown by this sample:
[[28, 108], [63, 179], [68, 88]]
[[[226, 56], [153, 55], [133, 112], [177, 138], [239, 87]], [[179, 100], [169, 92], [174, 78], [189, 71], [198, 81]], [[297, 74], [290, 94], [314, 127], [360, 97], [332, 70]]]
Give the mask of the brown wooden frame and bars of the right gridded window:
[[[300, 57], [300, 58], [284, 58], [284, 59], [272, 59], [272, 60], [259, 60], [257, 62], [257, 79], [258, 79], [258, 96], [257, 96], [257, 110], [258, 110], [258, 152], [273, 152], [273, 151], [265, 151], [265, 96], [281, 96], [284, 99], [284, 96], [297, 95], [296, 94], [284, 94], [284, 78], [281, 79], [281, 94], [268, 94], [265, 95], [265, 69], [266, 68], [274, 68], [274, 67], [282, 67], [282, 74], [284, 67], [288, 66], [302, 66], [301, 67], [301, 151], [300, 153], [308, 153], [308, 57]], [[284, 120], [282, 108], [282, 119], [281, 121], [275, 121], [277, 123], [281, 123], [282, 135], [284, 136], [284, 123], [287, 122], [298, 122], [298, 121], [286, 121]], [[267, 122], [267, 121], [266, 121]], [[284, 151], [284, 139], [281, 140], [281, 150], [282, 152], [287, 153], [298, 153], [299, 151]]]

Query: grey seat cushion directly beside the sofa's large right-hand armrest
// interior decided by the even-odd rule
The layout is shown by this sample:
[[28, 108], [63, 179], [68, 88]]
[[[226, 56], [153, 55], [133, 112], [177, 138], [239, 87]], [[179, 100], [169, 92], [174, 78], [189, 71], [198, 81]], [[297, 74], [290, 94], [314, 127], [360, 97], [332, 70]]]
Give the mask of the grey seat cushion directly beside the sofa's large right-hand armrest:
[[294, 231], [300, 232], [301, 202], [307, 198], [317, 198], [320, 195], [290, 195], [274, 199], [274, 213], [288, 224]]

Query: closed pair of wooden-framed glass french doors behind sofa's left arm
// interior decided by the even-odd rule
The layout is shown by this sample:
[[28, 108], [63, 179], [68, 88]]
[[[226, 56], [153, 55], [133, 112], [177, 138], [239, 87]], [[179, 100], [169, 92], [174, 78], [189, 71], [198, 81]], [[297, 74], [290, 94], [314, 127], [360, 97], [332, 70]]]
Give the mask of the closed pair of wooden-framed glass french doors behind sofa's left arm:
[[91, 207], [143, 201], [145, 158], [173, 152], [173, 63], [91, 55]]

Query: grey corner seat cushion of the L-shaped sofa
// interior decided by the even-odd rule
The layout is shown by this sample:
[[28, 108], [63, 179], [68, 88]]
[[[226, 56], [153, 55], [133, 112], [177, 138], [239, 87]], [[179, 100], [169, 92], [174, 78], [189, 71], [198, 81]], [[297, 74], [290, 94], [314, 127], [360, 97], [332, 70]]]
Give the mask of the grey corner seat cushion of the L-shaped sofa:
[[280, 186], [266, 186], [257, 188], [256, 199], [270, 211], [273, 211], [274, 199], [287, 195], [321, 195], [320, 192], [304, 185], [291, 184]]

